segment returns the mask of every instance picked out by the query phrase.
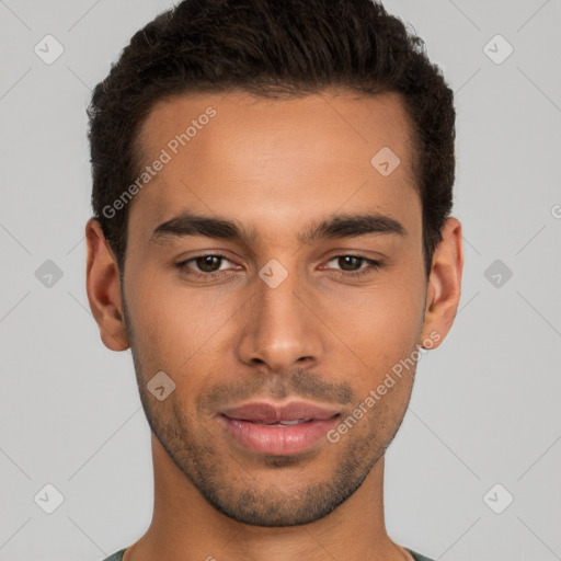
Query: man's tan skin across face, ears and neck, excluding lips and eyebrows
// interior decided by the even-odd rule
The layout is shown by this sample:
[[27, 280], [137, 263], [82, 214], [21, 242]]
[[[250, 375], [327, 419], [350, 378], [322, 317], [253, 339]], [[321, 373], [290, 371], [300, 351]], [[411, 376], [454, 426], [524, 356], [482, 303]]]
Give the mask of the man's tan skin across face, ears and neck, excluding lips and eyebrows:
[[[99, 224], [85, 228], [90, 306], [103, 343], [130, 346], [152, 428], [153, 517], [124, 561], [410, 559], [386, 531], [383, 454], [414, 367], [339, 442], [322, 438], [291, 457], [244, 449], [215, 414], [260, 399], [352, 414], [400, 359], [427, 341], [436, 348], [448, 333], [460, 298], [461, 225], [446, 221], [427, 279], [411, 128], [394, 93], [174, 96], [144, 123], [145, 164], [209, 105], [217, 115], [129, 204], [123, 286]], [[401, 160], [388, 176], [370, 163], [382, 147]], [[187, 209], [238, 220], [254, 236], [150, 240]], [[298, 241], [313, 221], [365, 211], [398, 220], [405, 234]], [[178, 266], [208, 253], [227, 260]], [[341, 255], [382, 266], [355, 278], [350, 273], [368, 263]], [[272, 259], [288, 273], [276, 288], [259, 276]], [[192, 274], [217, 270], [224, 276], [210, 280]], [[175, 383], [163, 401], [146, 387], [160, 370]]]

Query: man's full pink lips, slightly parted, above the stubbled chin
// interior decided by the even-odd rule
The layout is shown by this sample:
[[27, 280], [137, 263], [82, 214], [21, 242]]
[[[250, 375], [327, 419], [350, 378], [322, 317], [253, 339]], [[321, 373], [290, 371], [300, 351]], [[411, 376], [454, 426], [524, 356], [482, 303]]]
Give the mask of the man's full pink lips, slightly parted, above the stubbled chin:
[[[313, 403], [293, 401], [283, 405], [254, 402], [220, 411], [219, 421], [227, 434], [243, 447], [267, 455], [305, 451], [325, 436], [339, 420], [340, 412]], [[291, 425], [279, 421], [307, 420]], [[263, 424], [271, 423], [271, 424]]]

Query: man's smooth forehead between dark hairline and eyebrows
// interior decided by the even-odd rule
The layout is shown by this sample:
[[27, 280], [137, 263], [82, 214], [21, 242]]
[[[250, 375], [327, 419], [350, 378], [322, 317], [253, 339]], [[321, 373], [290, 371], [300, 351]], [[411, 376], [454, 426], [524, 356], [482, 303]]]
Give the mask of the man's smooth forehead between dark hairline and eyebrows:
[[157, 103], [141, 127], [142, 169], [165, 163], [133, 201], [129, 225], [154, 228], [185, 209], [247, 222], [259, 215], [261, 226], [285, 231], [340, 208], [405, 220], [413, 213], [414, 221], [410, 137], [394, 93], [176, 95]]

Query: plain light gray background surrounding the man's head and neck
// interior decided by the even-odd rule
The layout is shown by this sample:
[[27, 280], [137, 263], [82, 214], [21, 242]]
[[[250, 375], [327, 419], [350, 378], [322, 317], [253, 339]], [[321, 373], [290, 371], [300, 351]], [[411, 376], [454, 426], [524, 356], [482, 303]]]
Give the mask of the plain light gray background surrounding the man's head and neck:
[[[561, 559], [561, 2], [386, 4], [456, 91], [466, 251], [456, 324], [422, 358], [387, 454], [388, 530], [445, 561]], [[84, 108], [169, 5], [0, 0], [2, 561], [103, 559], [150, 522], [131, 357], [103, 346], [84, 289]], [[50, 65], [34, 51], [47, 34], [64, 47]], [[62, 273], [50, 286], [47, 260]], [[55, 501], [48, 483], [64, 496], [51, 514], [34, 499]]]

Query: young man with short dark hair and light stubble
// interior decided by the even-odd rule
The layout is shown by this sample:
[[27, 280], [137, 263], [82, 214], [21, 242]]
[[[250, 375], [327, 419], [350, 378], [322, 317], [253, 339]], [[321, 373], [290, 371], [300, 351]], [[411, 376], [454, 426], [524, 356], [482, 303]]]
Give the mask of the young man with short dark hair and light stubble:
[[426, 560], [383, 518], [460, 297], [453, 94], [368, 0], [185, 0], [94, 90], [87, 288], [131, 350], [150, 527], [111, 561]]

